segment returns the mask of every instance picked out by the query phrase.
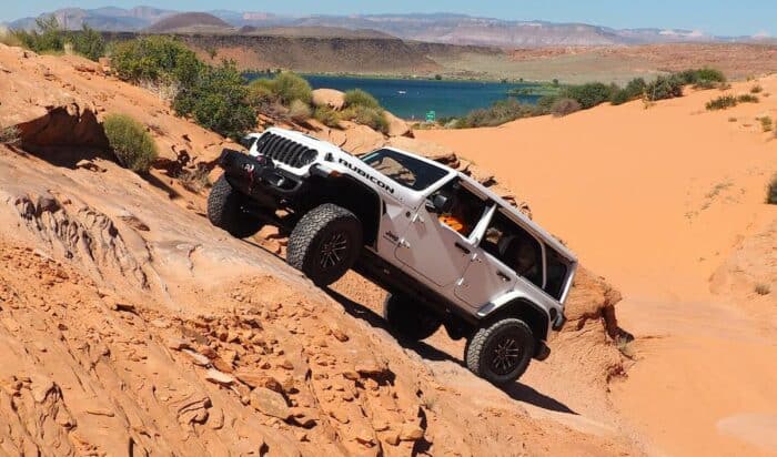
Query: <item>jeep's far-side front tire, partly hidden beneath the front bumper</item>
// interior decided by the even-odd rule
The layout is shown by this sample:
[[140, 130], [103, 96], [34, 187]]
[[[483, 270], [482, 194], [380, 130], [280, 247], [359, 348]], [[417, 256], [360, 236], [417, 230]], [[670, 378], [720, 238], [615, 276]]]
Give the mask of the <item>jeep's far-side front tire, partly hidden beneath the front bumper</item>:
[[262, 221], [244, 211], [246, 199], [232, 189], [226, 177], [221, 175], [208, 195], [208, 219], [211, 224], [238, 238], [245, 238], [259, 232]]

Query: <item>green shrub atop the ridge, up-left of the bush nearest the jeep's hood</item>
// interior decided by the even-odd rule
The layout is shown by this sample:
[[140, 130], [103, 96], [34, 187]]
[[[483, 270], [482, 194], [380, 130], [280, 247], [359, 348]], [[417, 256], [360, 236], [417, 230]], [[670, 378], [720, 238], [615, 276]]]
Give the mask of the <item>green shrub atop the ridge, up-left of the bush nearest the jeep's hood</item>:
[[111, 65], [127, 81], [175, 82], [182, 88], [192, 87], [205, 68], [181, 41], [161, 35], [115, 44]]

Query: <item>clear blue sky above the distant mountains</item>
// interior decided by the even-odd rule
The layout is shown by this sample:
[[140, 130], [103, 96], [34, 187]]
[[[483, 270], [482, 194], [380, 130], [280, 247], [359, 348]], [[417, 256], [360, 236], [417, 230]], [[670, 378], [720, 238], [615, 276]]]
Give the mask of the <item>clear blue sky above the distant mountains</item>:
[[6, 4], [0, 8], [0, 20], [37, 16], [63, 7], [129, 8], [141, 2], [175, 10], [231, 9], [284, 14], [444, 11], [502, 19], [585, 22], [614, 28], [684, 28], [725, 35], [777, 35], [775, 0], [3, 0]]

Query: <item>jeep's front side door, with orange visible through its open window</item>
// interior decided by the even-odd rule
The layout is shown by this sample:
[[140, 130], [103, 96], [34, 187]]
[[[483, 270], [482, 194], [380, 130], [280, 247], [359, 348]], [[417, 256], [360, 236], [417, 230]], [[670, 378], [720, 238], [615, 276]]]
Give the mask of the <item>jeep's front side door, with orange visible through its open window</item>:
[[[447, 207], [435, 207], [435, 197], [444, 200]], [[457, 282], [475, 253], [476, 242], [470, 236], [486, 204], [457, 176], [452, 179], [412, 214], [395, 250], [396, 258], [440, 287]]]

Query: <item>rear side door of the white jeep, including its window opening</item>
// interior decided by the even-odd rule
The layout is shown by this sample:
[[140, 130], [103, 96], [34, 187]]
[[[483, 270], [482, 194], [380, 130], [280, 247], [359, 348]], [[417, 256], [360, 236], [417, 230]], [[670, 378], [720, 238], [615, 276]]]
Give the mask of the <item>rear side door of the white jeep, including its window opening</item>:
[[454, 294], [480, 308], [515, 287], [518, 277], [543, 287], [542, 244], [503, 209], [494, 207], [480, 242]]

